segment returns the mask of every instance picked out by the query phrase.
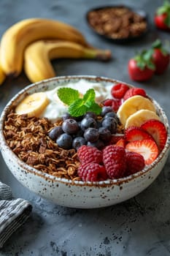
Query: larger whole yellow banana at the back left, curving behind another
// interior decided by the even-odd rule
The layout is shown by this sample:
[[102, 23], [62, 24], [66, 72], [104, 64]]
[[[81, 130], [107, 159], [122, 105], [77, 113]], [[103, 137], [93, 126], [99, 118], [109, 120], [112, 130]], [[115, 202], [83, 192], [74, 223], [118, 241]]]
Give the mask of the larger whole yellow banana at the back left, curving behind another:
[[6, 75], [16, 77], [20, 74], [26, 46], [38, 39], [64, 39], [89, 46], [80, 31], [59, 20], [21, 20], [7, 29], [1, 37], [0, 61]]

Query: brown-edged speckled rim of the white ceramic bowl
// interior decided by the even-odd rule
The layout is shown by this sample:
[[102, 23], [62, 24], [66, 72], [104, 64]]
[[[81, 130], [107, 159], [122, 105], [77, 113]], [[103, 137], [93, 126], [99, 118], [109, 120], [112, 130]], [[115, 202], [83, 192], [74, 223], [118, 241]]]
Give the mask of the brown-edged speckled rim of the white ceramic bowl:
[[[9, 146], [7, 145], [7, 142], [4, 138], [4, 133], [3, 133], [3, 127], [4, 127], [4, 121], [5, 118], [7, 116], [7, 113], [9, 113], [9, 110], [11, 109], [11, 106], [13, 104], [13, 102], [15, 102], [16, 99], [18, 99], [21, 95], [24, 94], [28, 94], [28, 90], [29, 89], [33, 89], [36, 86], [41, 86], [42, 90], [44, 90], [47, 87], [47, 83], [49, 82], [53, 82], [56, 80], [79, 80], [79, 79], [85, 79], [85, 80], [92, 80], [94, 82], [106, 82], [106, 83], [126, 83], [120, 80], [115, 80], [114, 78], [106, 78], [104, 76], [95, 76], [95, 75], [68, 75], [68, 76], [60, 76], [60, 77], [55, 77], [55, 78], [49, 78], [46, 80], [42, 80], [40, 82], [37, 83], [31, 83], [29, 86], [26, 86], [24, 89], [22, 89], [21, 91], [19, 91], [17, 94], [15, 94], [14, 97], [12, 97], [12, 99], [9, 100], [9, 102], [7, 103], [7, 105], [4, 107], [4, 110], [2, 110], [1, 112], [1, 117], [0, 117], [0, 142], [1, 142], [1, 146], [5, 147], [7, 149], [7, 151], [9, 151], [10, 154], [12, 154], [12, 157], [14, 157], [14, 159], [16, 159], [16, 162], [18, 162], [18, 165], [20, 165], [20, 167], [22, 167], [24, 170], [26, 170], [28, 173], [34, 173], [34, 175], [37, 176], [41, 176], [42, 178], [45, 178], [46, 180], [50, 180], [50, 181], [58, 181], [64, 184], [72, 184], [72, 185], [77, 185], [77, 186], [95, 186], [95, 187], [107, 187], [107, 186], [112, 186], [112, 185], [119, 185], [120, 184], [124, 184], [124, 183], [128, 183], [128, 181], [131, 180], [136, 180], [137, 178], [139, 178], [140, 176], [144, 176], [147, 172], [149, 172], [150, 170], [152, 170], [152, 168], [155, 167], [155, 165], [158, 164], [159, 161], [161, 161], [161, 159], [163, 158], [163, 156], [166, 154], [166, 152], [169, 150], [170, 147], [170, 134], [169, 134], [169, 121], [168, 118], [166, 117], [166, 113], [164, 112], [163, 108], [161, 108], [161, 106], [158, 104], [158, 102], [155, 101], [155, 99], [152, 99], [150, 96], [150, 99], [152, 99], [152, 102], [155, 104], [155, 107], [158, 109], [159, 114], [163, 117], [163, 121], [164, 124], [166, 126], [167, 129], [167, 139], [166, 139], [166, 145], [163, 148], [163, 151], [161, 152], [161, 154], [157, 157], [157, 159], [155, 159], [154, 162], [152, 162], [151, 165], [144, 167], [143, 170], [139, 171], [138, 173], [134, 173], [131, 176], [127, 176], [124, 178], [118, 178], [118, 179], [107, 179], [106, 181], [73, 181], [73, 180], [69, 180], [66, 178], [58, 178], [55, 177], [53, 175], [50, 175], [48, 173], [44, 173], [40, 170], [36, 170], [34, 167], [31, 167], [29, 165], [27, 165], [25, 162], [23, 162], [22, 160], [20, 160], [17, 155], [15, 153], [12, 152], [12, 150], [9, 148]], [[126, 83], [128, 86], [134, 87], [132, 86], [130, 83]], [[39, 89], [37, 90], [39, 91]]]

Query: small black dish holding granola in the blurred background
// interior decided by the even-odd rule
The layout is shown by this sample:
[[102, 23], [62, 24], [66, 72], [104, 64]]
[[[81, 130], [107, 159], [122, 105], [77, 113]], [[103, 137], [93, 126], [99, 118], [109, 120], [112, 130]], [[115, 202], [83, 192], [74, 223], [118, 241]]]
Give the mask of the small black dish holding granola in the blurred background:
[[[128, 10], [129, 12], [133, 12], [136, 15], [139, 15], [142, 19], [142, 21], [146, 24], [146, 28], [141, 31], [141, 33], [137, 34], [137, 35], [132, 35], [129, 34], [128, 36], [121, 36], [121, 37], [112, 37], [109, 34], [105, 34], [103, 31], [98, 31], [98, 29], [95, 28], [95, 26], [93, 26], [90, 22], [90, 14], [92, 12], [95, 12], [96, 14], [98, 14], [101, 11], [106, 11], [106, 10], [114, 10], [116, 8], [119, 9], [125, 9]], [[104, 6], [104, 7], [96, 7], [93, 9], [88, 10], [88, 12], [86, 13], [86, 20], [88, 22], [88, 26], [90, 27], [90, 29], [92, 29], [96, 34], [98, 34], [100, 37], [104, 37], [105, 39], [109, 39], [112, 40], [113, 42], [118, 42], [118, 43], [122, 43], [122, 42], [131, 42], [134, 41], [136, 39], [140, 39], [141, 37], [144, 37], [147, 34], [148, 31], [148, 20], [147, 20], [147, 13], [144, 12], [144, 10], [137, 10], [135, 8], [132, 7], [127, 7], [125, 5], [114, 5], [114, 6]], [[101, 20], [97, 20], [97, 22], [101, 22]]]

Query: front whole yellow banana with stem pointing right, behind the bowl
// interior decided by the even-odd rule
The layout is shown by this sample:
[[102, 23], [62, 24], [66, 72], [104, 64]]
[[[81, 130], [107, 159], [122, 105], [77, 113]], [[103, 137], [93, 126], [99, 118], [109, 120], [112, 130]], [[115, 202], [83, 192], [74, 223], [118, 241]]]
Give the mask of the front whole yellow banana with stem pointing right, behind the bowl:
[[55, 77], [51, 59], [110, 59], [109, 50], [86, 48], [75, 42], [58, 40], [39, 40], [33, 42], [24, 53], [24, 70], [29, 80], [35, 83], [39, 80]]

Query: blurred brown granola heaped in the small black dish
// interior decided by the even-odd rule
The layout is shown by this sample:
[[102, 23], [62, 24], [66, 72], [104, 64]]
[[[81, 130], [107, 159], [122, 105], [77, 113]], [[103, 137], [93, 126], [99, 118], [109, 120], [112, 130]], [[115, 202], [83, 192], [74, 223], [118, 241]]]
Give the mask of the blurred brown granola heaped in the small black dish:
[[99, 34], [112, 39], [138, 37], [147, 29], [144, 17], [126, 7], [108, 7], [88, 13], [88, 22]]

